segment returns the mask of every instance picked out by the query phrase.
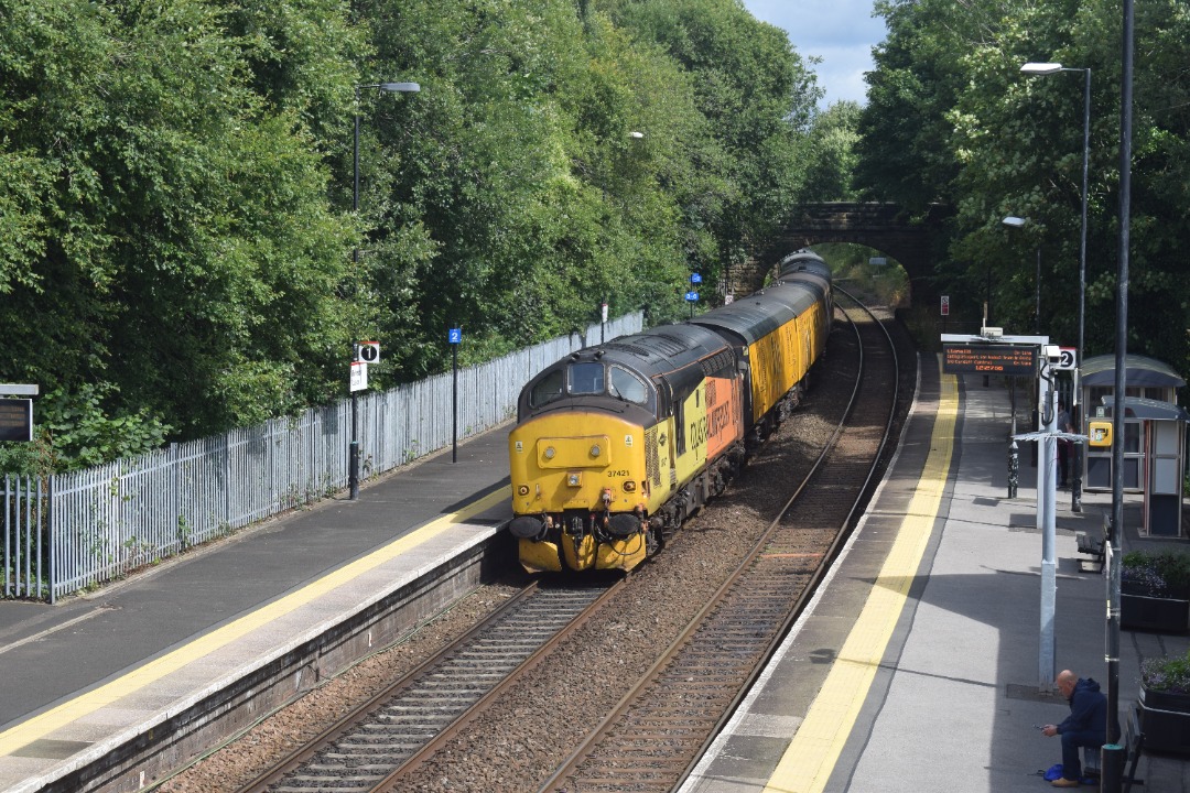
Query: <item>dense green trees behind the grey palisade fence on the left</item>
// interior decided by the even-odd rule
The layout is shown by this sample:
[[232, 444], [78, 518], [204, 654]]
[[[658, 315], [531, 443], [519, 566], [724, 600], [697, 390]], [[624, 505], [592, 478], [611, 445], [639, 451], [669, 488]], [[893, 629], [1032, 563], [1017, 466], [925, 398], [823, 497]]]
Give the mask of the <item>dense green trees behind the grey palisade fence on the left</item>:
[[684, 316], [851, 128], [810, 141], [735, 0], [12, 0], [0, 88], [0, 379], [52, 395], [0, 459], [39, 471], [345, 395], [361, 339], [386, 388], [450, 327], [469, 363]]

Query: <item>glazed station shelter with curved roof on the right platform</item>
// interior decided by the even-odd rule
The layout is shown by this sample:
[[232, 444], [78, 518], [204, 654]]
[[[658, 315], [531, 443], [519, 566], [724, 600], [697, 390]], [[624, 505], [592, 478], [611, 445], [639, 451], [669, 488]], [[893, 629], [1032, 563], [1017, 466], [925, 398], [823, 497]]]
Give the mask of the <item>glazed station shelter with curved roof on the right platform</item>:
[[[1177, 404], [1185, 380], [1169, 365], [1144, 355], [1125, 357], [1123, 491], [1144, 493], [1142, 534], [1180, 536], [1186, 422]], [[1088, 358], [1079, 369], [1081, 433], [1094, 420], [1110, 420], [1115, 404], [1115, 355]], [[1111, 448], [1084, 447], [1083, 487], [1110, 491]]]

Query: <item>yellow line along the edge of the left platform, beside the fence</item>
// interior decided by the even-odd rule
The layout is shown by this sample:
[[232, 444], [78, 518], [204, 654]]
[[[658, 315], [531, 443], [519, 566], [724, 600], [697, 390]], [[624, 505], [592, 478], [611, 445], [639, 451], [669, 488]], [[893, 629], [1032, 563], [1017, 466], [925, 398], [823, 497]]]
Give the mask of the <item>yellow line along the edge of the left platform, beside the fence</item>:
[[312, 584], [292, 592], [286, 597], [275, 600], [256, 611], [231, 622], [223, 628], [211, 631], [205, 636], [189, 642], [184, 647], [155, 659], [132, 672], [105, 684], [93, 691], [88, 691], [68, 703], [63, 703], [27, 722], [23, 722], [14, 728], [0, 732], [0, 755], [11, 755], [13, 751], [25, 747], [38, 738], [54, 732], [76, 719], [93, 713], [101, 707], [111, 705], [123, 697], [144, 688], [151, 682], [161, 680], [165, 675], [176, 672], [193, 661], [209, 655], [211, 653], [230, 644], [237, 638], [251, 632], [274, 619], [322, 597], [331, 590], [358, 578], [359, 575], [383, 565], [384, 562], [407, 553], [433, 537], [438, 536], [451, 525], [462, 523], [469, 517], [494, 506], [501, 501], [512, 497], [507, 487], [501, 487], [477, 502], [468, 504], [457, 512], [444, 515], [426, 523], [416, 531], [412, 531], [399, 540], [390, 542], [383, 548], [377, 548], [372, 553], [357, 559], [356, 561], [330, 573]]

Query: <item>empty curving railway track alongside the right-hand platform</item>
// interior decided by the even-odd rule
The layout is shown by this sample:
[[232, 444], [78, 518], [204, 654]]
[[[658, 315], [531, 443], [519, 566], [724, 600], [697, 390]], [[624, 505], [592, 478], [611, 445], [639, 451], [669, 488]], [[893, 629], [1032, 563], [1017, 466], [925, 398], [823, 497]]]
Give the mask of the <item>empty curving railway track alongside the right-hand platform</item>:
[[[892, 341], [879, 322], [852, 328], [862, 364], [832, 442], [749, 559], [541, 793], [676, 788], [801, 615], [870, 495], [895, 415]], [[806, 533], [821, 552], [793, 550]]]

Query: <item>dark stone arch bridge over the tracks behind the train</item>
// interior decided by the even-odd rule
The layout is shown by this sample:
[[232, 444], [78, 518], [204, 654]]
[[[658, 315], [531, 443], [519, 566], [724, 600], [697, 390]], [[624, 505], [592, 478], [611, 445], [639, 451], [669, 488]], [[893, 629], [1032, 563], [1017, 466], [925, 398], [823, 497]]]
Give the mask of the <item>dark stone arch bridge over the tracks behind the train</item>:
[[945, 251], [945, 224], [950, 213], [932, 206], [925, 218], [912, 219], [895, 203], [807, 203], [798, 207], [784, 228], [753, 262], [732, 276], [735, 294], [764, 285], [765, 276], [787, 253], [815, 243], [857, 243], [896, 259], [909, 276], [914, 302], [932, 295], [934, 264]]

